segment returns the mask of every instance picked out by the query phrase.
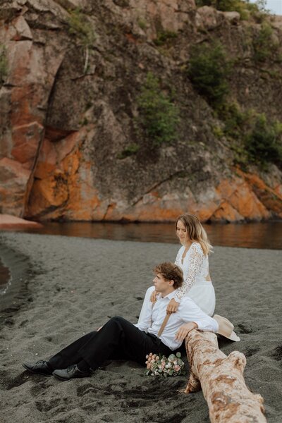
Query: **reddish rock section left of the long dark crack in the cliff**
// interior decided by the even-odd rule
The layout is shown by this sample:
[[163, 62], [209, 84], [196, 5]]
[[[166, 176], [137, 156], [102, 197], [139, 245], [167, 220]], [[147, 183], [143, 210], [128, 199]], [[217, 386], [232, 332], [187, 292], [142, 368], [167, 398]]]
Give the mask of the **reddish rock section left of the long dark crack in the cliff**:
[[43, 50], [32, 42], [32, 31], [23, 16], [0, 24], [0, 39], [8, 55], [8, 79], [1, 88], [0, 183], [1, 209], [23, 216], [30, 180], [42, 137], [49, 92], [62, 56], [49, 56], [47, 70]]

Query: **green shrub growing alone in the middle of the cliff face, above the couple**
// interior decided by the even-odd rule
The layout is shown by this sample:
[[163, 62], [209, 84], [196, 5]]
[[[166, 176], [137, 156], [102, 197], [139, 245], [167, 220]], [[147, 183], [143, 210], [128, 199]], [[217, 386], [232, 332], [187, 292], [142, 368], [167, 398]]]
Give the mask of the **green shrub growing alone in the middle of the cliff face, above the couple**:
[[137, 106], [137, 124], [146, 137], [152, 140], [152, 145], [157, 146], [176, 139], [180, 121], [178, 107], [171, 97], [161, 90], [158, 78], [150, 72], [137, 97]]

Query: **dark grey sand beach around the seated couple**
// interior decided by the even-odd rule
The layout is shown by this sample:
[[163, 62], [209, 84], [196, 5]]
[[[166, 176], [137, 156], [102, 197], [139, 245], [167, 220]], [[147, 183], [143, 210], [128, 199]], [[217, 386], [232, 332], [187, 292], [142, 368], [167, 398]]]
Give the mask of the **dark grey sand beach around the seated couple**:
[[[1, 233], [12, 280], [1, 295], [1, 422], [209, 422], [202, 392], [187, 376], [154, 379], [133, 362], [111, 362], [90, 378], [61, 382], [25, 372], [115, 315], [135, 323], [152, 267], [178, 245]], [[264, 397], [268, 422], [282, 421], [282, 252], [215, 247], [210, 269], [216, 312], [235, 324], [247, 357], [245, 381]]]

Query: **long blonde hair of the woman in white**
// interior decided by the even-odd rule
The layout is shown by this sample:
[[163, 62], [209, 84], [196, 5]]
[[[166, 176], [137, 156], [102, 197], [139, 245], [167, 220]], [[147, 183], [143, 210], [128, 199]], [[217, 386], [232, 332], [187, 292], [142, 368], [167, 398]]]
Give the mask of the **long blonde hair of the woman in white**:
[[181, 221], [185, 226], [188, 238], [192, 242], [197, 242], [201, 245], [204, 255], [208, 255], [209, 252], [212, 252], [212, 245], [207, 238], [207, 232], [204, 231], [202, 223], [195, 214], [181, 214], [181, 216], [178, 216], [176, 219], [176, 229], [178, 221]]

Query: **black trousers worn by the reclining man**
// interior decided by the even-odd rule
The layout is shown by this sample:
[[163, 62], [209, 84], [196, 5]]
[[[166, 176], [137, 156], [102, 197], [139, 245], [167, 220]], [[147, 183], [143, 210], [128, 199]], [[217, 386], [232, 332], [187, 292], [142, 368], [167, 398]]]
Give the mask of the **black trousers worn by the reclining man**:
[[123, 317], [112, 317], [99, 331], [82, 336], [50, 358], [53, 369], [66, 369], [85, 360], [92, 370], [107, 360], [134, 360], [145, 366], [146, 355], [161, 353], [168, 357], [171, 349], [157, 336], [137, 329]]

